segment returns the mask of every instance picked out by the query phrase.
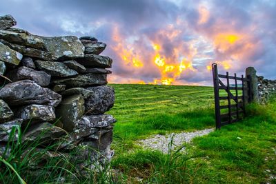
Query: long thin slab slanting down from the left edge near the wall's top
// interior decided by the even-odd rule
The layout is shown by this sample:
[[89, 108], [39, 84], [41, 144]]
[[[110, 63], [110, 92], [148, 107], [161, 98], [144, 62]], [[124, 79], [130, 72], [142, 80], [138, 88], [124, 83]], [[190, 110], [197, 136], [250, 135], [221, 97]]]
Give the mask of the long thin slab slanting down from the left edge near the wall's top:
[[32, 57], [34, 59], [42, 59], [46, 61], [52, 61], [53, 59], [55, 59], [55, 57], [52, 57], [52, 54], [50, 54], [50, 52], [38, 50], [35, 48], [29, 48], [23, 45], [17, 45], [15, 43], [9, 43], [8, 41], [4, 41], [3, 39], [0, 39], [0, 42], [2, 42], [4, 45], [7, 45], [12, 50], [23, 54], [26, 57]]

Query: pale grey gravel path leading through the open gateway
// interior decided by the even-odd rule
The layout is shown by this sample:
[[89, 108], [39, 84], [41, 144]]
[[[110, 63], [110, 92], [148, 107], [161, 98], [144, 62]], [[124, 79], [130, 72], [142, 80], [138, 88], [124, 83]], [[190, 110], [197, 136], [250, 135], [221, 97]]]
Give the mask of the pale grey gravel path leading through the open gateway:
[[163, 135], [150, 136], [149, 139], [142, 139], [138, 141], [138, 145], [144, 148], [160, 150], [164, 154], [168, 153], [168, 144], [170, 143], [173, 136], [172, 150], [177, 149], [177, 147], [183, 145], [184, 143], [189, 143], [196, 136], [204, 136], [213, 132], [214, 128], [209, 128], [205, 130], [198, 130], [195, 132], [181, 132], [181, 133], [171, 133]]

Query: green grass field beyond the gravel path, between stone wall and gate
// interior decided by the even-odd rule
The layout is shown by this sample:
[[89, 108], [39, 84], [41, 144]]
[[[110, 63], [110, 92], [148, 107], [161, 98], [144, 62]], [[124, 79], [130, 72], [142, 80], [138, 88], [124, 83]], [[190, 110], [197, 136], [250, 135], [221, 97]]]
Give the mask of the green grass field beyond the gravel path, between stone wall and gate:
[[213, 88], [180, 85], [124, 85], [115, 88], [115, 141], [214, 126]]

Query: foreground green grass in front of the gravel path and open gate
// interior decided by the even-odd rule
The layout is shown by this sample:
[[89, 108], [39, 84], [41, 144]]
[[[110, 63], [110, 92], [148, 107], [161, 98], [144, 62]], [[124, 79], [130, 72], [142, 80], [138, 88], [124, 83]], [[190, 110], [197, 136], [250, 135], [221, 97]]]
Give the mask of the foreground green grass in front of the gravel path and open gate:
[[136, 150], [112, 166], [150, 183], [276, 183], [275, 112], [276, 98], [250, 105], [246, 119], [195, 139], [187, 154]]

